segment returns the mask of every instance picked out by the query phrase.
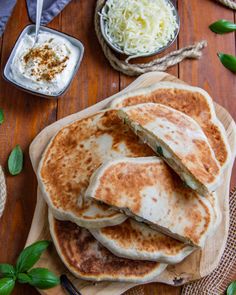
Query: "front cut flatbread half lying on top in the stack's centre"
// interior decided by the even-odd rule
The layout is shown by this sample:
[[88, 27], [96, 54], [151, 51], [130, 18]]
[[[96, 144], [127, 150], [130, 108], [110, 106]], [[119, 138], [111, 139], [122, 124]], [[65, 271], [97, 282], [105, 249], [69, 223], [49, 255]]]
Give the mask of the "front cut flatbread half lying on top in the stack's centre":
[[92, 175], [85, 195], [198, 247], [214, 233], [220, 214], [213, 199], [186, 187], [157, 157], [104, 163]]

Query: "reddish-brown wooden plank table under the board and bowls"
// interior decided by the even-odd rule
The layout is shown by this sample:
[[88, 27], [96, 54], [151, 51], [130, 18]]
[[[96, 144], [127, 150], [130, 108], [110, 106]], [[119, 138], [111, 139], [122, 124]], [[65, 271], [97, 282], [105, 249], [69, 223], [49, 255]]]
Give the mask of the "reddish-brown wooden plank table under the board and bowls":
[[[221, 66], [216, 52], [235, 54], [235, 34], [215, 35], [208, 25], [219, 18], [234, 21], [234, 13], [211, 0], [179, 0], [181, 31], [173, 48], [206, 39], [208, 47], [199, 61], [184, 61], [168, 72], [189, 84], [205, 88], [212, 97], [236, 118], [236, 76]], [[37, 133], [55, 120], [65, 117], [110, 96], [127, 86], [128, 78], [112, 70], [105, 60], [93, 29], [95, 0], [72, 0], [64, 11], [50, 23], [50, 27], [79, 38], [85, 45], [81, 68], [65, 97], [45, 100], [17, 90], [0, 79], [0, 108], [5, 113], [5, 123], [0, 127], [0, 163], [7, 166], [11, 149], [20, 144], [24, 150], [25, 166], [17, 177], [7, 174], [8, 200], [0, 220], [0, 262], [14, 263], [23, 248], [36, 203], [36, 178], [28, 147]], [[19, 0], [0, 39], [1, 71], [14, 42], [29, 24], [25, 1]], [[231, 187], [236, 185], [236, 169]], [[180, 288], [161, 284], [145, 286], [148, 295], [177, 295]], [[13, 294], [37, 294], [33, 288], [17, 285]]]

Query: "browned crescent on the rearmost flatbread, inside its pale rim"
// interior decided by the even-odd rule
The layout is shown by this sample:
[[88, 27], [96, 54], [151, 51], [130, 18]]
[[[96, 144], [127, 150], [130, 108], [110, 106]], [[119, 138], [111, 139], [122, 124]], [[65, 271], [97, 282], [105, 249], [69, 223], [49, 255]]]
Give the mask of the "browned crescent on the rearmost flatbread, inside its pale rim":
[[219, 163], [221, 165], [225, 163], [228, 153], [224, 139], [218, 126], [211, 122], [209, 105], [201, 93], [183, 89], [157, 89], [151, 94], [129, 97], [123, 100], [117, 107], [147, 102], [164, 104], [196, 120], [206, 134]]

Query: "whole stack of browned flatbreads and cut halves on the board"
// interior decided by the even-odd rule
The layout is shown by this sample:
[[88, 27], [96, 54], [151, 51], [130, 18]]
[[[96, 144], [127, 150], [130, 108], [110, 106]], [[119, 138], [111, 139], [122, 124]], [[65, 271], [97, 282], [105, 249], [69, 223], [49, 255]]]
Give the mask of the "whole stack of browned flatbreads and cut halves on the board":
[[62, 128], [38, 170], [60, 258], [86, 280], [153, 280], [216, 231], [229, 160], [210, 96], [170, 82]]

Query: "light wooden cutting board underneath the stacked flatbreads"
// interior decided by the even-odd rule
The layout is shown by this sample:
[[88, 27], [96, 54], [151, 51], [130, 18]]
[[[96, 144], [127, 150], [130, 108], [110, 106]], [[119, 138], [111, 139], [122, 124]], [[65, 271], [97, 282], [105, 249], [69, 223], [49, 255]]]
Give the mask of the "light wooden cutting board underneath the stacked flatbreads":
[[[176, 77], [169, 74], [163, 72], [153, 72], [140, 76], [120, 93], [124, 93], [126, 91], [134, 90], [140, 87], [149, 86], [159, 81], [173, 81], [184, 83], [183, 81], [180, 81]], [[92, 115], [95, 112], [106, 108], [111, 100], [116, 97], [116, 95], [109, 97], [81, 112], [63, 118], [41, 131], [30, 146], [30, 158], [34, 171], [37, 171], [39, 160], [49, 140], [52, 136], [55, 135], [55, 133], [57, 133], [60, 128], [71, 123], [74, 120]], [[208, 275], [217, 267], [221, 255], [224, 251], [229, 226], [229, 183], [233, 160], [236, 153], [236, 125], [230, 114], [223, 107], [215, 104], [215, 109], [217, 117], [225, 127], [233, 154], [232, 161], [223, 175], [224, 179], [222, 181], [222, 186], [216, 192], [222, 211], [221, 224], [216, 234], [207, 241], [202, 251], [197, 250], [189, 257], [187, 257], [183, 262], [177, 265], [168, 266], [167, 269], [160, 276], [153, 280], [153, 282], [163, 282], [166, 284], [178, 286], [185, 284], [186, 282], [202, 278]], [[37, 205], [26, 245], [42, 239], [50, 239], [50, 234], [47, 221], [47, 205], [43, 200], [40, 190], [38, 189]], [[37, 266], [48, 267], [50, 270], [54, 271], [58, 275], [67, 274], [83, 295], [119, 295], [129, 288], [137, 285], [134, 283], [112, 282], [101, 282], [94, 284], [92, 282], [77, 279], [67, 271], [66, 267], [63, 265], [59, 256], [57, 255], [53, 245], [43, 254], [42, 258], [37, 263]], [[40, 292], [41, 294], [47, 295], [66, 294], [60, 286], [49, 290], [40, 290]]]

